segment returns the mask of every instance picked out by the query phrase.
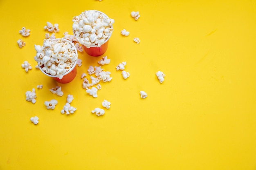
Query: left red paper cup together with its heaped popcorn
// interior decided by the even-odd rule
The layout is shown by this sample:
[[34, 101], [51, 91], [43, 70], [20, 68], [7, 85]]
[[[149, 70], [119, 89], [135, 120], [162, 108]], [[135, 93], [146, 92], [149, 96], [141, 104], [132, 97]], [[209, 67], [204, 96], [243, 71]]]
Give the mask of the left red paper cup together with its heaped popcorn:
[[59, 83], [71, 82], [76, 77], [78, 54], [76, 47], [64, 38], [45, 39], [43, 46], [35, 45], [40, 71]]

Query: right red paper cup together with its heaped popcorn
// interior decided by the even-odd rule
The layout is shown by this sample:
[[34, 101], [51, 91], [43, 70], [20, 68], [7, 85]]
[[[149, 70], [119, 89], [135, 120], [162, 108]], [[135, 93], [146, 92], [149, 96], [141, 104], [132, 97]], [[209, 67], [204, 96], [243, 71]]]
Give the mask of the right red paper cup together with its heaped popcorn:
[[100, 11], [88, 10], [73, 18], [73, 33], [76, 40], [91, 56], [99, 56], [108, 49], [115, 22]]

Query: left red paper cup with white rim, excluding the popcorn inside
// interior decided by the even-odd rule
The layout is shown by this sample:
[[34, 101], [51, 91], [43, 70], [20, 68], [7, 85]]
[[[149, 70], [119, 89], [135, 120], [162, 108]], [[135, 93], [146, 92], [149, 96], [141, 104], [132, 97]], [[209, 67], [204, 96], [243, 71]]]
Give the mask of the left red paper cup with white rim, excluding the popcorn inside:
[[[60, 38], [56, 38], [56, 39], [53, 39], [52, 41], [58, 41], [59, 39]], [[74, 47], [75, 53], [77, 54], [76, 47], [74, 46], [74, 44], [72, 42], [70, 42], [69, 40], [65, 40], [65, 39], [63, 39], [63, 41], [64, 42], [65, 41], [69, 42], [72, 45], [72, 47]], [[45, 75], [47, 75], [49, 77], [52, 77], [54, 80], [56, 80], [56, 82], [59, 82], [59, 83], [69, 83], [69, 82], [71, 82], [76, 77], [76, 73], [77, 73], [76, 63], [77, 63], [77, 60], [74, 62], [74, 65], [72, 66], [72, 68], [70, 68], [69, 71], [67, 71], [65, 74], [63, 74], [62, 79], [59, 79], [56, 75], [50, 75], [50, 74], [45, 73], [45, 71], [43, 71], [42, 67], [40, 67], [40, 66], [39, 66], [39, 69]]]

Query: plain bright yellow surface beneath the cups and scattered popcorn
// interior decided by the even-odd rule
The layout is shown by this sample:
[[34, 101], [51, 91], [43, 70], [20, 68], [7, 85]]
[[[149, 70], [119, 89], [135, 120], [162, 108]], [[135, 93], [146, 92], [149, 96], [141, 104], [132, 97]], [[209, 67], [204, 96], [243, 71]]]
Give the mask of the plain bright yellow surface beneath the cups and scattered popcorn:
[[[102, 56], [79, 53], [82, 66], [69, 84], [43, 75], [34, 61], [47, 21], [59, 24], [61, 38], [90, 9], [115, 20], [102, 55], [111, 59], [102, 68], [112, 81], [101, 83], [97, 98], [80, 76]], [[256, 0], [1, 0], [0, 16], [0, 170], [256, 170]], [[29, 37], [18, 33], [23, 26]], [[115, 70], [123, 61], [126, 80]], [[166, 75], [162, 84], [157, 71]], [[57, 85], [63, 97], [49, 91]], [[32, 88], [35, 104], [25, 100]], [[62, 115], [68, 94], [77, 110]], [[47, 110], [51, 99], [58, 105]], [[91, 110], [104, 99], [111, 107], [97, 117]], [[29, 120], [35, 115], [38, 125]]]

